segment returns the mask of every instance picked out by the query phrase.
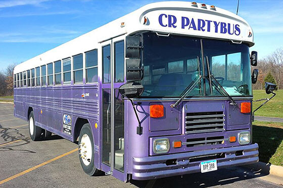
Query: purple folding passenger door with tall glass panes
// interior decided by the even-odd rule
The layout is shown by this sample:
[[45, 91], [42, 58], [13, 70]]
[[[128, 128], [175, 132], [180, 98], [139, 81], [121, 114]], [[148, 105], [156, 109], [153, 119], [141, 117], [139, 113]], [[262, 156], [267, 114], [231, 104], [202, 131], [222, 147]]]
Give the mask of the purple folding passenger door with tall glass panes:
[[124, 101], [119, 87], [125, 83], [124, 36], [102, 43], [102, 169], [126, 179]]

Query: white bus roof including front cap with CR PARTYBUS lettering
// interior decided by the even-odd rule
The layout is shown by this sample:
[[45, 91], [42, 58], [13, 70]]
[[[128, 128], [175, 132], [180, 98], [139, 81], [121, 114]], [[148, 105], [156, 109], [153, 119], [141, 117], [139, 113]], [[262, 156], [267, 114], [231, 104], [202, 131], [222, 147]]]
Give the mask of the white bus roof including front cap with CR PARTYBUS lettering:
[[[95, 19], [95, 18], [94, 18]], [[119, 35], [141, 31], [159, 34], [232, 40], [254, 45], [253, 31], [241, 17], [218, 7], [191, 2], [159, 2], [118, 18], [15, 67], [19, 73], [99, 47], [99, 43]]]

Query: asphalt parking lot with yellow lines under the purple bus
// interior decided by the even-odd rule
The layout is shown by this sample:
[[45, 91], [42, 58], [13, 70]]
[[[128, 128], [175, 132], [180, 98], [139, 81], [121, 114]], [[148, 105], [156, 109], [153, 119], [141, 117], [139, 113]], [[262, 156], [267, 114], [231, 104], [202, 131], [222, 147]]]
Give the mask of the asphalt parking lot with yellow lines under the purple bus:
[[90, 177], [75, 149], [56, 135], [32, 142], [27, 122], [13, 116], [13, 104], [0, 103], [0, 187], [281, 187], [243, 167], [128, 183], [110, 175]]

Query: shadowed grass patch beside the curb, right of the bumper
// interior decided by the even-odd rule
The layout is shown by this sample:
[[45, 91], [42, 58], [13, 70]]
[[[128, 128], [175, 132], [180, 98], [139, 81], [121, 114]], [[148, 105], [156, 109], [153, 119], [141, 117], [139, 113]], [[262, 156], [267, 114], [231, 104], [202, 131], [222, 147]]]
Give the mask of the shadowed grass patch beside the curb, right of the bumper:
[[283, 123], [254, 121], [253, 143], [259, 145], [259, 161], [283, 166]]

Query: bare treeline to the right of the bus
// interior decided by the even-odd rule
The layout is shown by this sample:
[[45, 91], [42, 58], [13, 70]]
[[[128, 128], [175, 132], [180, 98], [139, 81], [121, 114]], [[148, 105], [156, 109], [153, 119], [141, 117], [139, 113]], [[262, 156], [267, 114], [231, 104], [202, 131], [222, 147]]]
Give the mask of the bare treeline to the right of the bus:
[[266, 58], [258, 61], [258, 80], [253, 84], [253, 89], [264, 89], [265, 82], [277, 85], [277, 89], [283, 89], [283, 48], [276, 49]]

